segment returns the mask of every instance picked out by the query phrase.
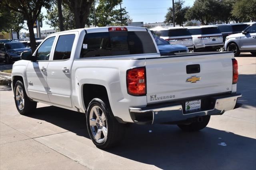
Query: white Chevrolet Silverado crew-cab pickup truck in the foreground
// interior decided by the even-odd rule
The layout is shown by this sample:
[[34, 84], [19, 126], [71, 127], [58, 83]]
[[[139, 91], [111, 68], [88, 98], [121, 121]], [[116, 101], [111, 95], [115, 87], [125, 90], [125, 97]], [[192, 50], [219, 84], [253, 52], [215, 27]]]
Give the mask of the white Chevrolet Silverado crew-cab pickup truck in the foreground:
[[232, 52], [161, 56], [142, 27], [99, 27], [54, 33], [13, 65], [20, 114], [37, 102], [86, 113], [100, 149], [114, 146], [125, 123], [206, 127], [210, 115], [237, 107], [238, 64]]

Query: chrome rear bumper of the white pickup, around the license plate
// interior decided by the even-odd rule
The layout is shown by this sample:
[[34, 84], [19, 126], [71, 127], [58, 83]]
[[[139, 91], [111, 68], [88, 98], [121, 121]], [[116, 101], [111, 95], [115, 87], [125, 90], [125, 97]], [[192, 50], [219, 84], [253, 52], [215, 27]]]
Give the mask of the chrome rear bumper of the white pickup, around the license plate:
[[[191, 113], [184, 113], [182, 104], [178, 101], [168, 106], [153, 106], [144, 108], [130, 107], [130, 115], [134, 123], [137, 124], [153, 124], [153, 123], [170, 123], [184, 121], [193, 117], [205, 115], [222, 115], [225, 111], [241, 107], [236, 103], [242, 94], [229, 94], [222, 96], [212, 96], [214, 100], [214, 108], [210, 110], [197, 110]], [[188, 99], [188, 101], [190, 101]]]

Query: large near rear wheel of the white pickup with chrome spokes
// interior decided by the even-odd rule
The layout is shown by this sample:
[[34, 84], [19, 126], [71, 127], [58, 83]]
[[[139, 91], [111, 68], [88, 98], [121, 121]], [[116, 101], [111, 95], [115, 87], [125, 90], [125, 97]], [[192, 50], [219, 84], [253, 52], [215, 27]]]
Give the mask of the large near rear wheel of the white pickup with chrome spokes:
[[[93, 111], [94, 108], [101, 109], [101, 111], [99, 111], [99, 113], [102, 112], [100, 117], [102, 117], [102, 115], [104, 114], [105, 121], [102, 121], [103, 119], [99, 119], [97, 117], [95, 119], [95, 122], [97, 125], [94, 125], [94, 123], [92, 123], [92, 126], [91, 126], [90, 120], [91, 121], [94, 120], [94, 117], [93, 117], [94, 113], [95, 113]], [[102, 122], [101, 125], [99, 124], [99, 120]], [[87, 124], [88, 133], [90, 135], [90, 138], [92, 139], [92, 142], [99, 149], [108, 149], [108, 148], [114, 147], [123, 138], [124, 124], [118, 123], [118, 121], [114, 117], [114, 115], [110, 109], [110, 106], [106, 100], [103, 101], [99, 98], [92, 99], [92, 101], [88, 105], [88, 109], [86, 112], [86, 124]], [[107, 133], [105, 132], [106, 137], [103, 133], [104, 127], [106, 127], [105, 129], [107, 129]], [[99, 138], [98, 140], [96, 139], [97, 134], [95, 134], [96, 128], [97, 128], [97, 133], [99, 130], [102, 129], [102, 132], [100, 133], [100, 137], [102, 137], [102, 138]], [[99, 141], [99, 140], [102, 140], [102, 141]]]

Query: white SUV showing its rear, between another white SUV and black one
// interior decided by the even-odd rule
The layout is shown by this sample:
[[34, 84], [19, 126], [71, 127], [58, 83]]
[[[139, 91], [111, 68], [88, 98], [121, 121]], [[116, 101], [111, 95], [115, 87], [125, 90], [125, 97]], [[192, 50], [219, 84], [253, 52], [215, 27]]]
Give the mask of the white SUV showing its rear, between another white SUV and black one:
[[217, 26], [201, 25], [187, 27], [192, 35], [195, 51], [199, 49], [220, 49], [223, 47], [222, 34]]

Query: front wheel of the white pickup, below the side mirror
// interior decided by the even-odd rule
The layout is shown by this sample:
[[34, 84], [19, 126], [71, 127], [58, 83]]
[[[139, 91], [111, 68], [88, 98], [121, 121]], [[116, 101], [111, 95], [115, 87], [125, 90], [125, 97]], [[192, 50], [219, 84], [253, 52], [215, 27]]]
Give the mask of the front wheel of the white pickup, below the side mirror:
[[[22, 89], [22, 95], [21, 95], [21, 93], [19, 93], [19, 90], [17, 88]], [[16, 94], [16, 91], [18, 92], [18, 95]], [[20, 102], [20, 100], [18, 100], [18, 96], [19, 96], [20, 100], [23, 100], [22, 108], [19, 107], [19, 104], [21, 102]], [[23, 97], [23, 99], [22, 99], [22, 97]], [[20, 80], [18, 80], [14, 86], [14, 101], [15, 101], [16, 108], [21, 115], [28, 115], [28, 114], [34, 113], [36, 110], [37, 102], [33, 102], [32, 100], [30, 100], [30, 98], [28, 98], [25, 88], [24, 88], [24, 84]]]

